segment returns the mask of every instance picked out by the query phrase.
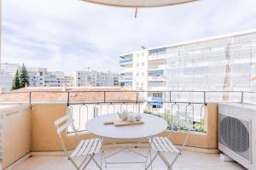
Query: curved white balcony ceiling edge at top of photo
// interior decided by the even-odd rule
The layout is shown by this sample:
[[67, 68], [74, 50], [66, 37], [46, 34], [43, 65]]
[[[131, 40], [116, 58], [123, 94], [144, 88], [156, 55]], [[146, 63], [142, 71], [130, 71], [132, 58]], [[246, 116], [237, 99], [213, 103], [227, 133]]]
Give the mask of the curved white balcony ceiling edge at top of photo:
[[110, 5], [115, 7], [128, 8], [150, 8], [177, 5], [180, 3], [191, 3], [197, 0], [83, 0], [90, 3]]

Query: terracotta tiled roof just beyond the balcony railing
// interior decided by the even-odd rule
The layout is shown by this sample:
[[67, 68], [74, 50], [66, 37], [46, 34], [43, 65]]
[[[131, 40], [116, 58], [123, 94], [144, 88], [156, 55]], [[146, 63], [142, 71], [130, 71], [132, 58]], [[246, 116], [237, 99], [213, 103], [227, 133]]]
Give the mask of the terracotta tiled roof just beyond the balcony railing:
[[[30, 94], [31, 93], [31, 94]], [[143, 97], [136, 91], [127, 91], [120, 87], [84, 87], [84, 88], [21, 88], [11, 93], [0, 94], [0, 102], [23, 103], [70, 103], [84, 102], [142, 102]], [[30, 96], [31, 95], [31, 96]]]

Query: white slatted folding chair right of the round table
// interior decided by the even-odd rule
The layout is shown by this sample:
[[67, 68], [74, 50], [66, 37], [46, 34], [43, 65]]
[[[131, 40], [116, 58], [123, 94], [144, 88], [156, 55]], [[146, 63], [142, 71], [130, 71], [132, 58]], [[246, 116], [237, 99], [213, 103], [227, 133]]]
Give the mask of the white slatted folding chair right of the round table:
[[[189, 138], [189, 130], [193, 127], [193, 117], [188, 116], [185, 112], [177, 111], [176, 119], [177, 119], [176, 122], [179, 123], [180, 127], [183, 127], [183, 130], [186, 133], [181, 149], [177, 150], [177, 147], [174, 144], [172, 144], [172, 142], [169, 138], [170, 134], [172, 134], [172, 132], [173, 132], [173, 128], [172, 128], [172, 132], [168, 135], [168, 137], [158, 137], [158, 136], [151, 137], [149, 139], [150, 149], [148, 152], [148, 156], [150, 156], [150, 159], [149, 159], [150, 162], [149, 162], [148, 166], [146, 167], [146, 170], [150, 166], [152, 166], [152, 163], [154, 162], [154, 160], [157, 156], [160, 156], [160, 159], [162, 161], [164, 161], [168, 170], [172, 170], [173, 164], [175, 163], [175, 161], [177, 161], [178, 156], [180, 156], [182, 154], [185, 144], [187, 143], [187, 140]], [[150, 150], [154, 150], [156, 152], [153, 159], [151, 159], [151, 151]], [[172, 161], [168, 161], [166, 159], [166, 156], [164, 156], [164, 153], [172, 153], [172, 154], [175, 154], [175, 156]]]

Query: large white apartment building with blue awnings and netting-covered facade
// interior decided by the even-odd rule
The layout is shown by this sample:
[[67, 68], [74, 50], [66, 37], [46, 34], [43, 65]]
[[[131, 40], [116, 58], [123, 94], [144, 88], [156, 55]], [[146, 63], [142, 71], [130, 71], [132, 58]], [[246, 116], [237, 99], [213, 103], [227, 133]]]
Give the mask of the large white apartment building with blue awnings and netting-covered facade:
[[[255, 91], [256, 30], [122, 54], [119, 65], [119, 82], [127, 89]], [[148, 93], [148, 104], [160, 106], [164, 95]]]

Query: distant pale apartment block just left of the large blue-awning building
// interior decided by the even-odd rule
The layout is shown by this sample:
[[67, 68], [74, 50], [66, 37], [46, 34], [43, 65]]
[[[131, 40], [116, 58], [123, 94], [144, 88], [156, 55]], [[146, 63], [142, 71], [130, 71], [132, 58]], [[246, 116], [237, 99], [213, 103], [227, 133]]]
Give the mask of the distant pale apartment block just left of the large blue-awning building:
[[119, 74], [102, 71], [76, 71], [74, 85], [82, 86], [119, 86]]

